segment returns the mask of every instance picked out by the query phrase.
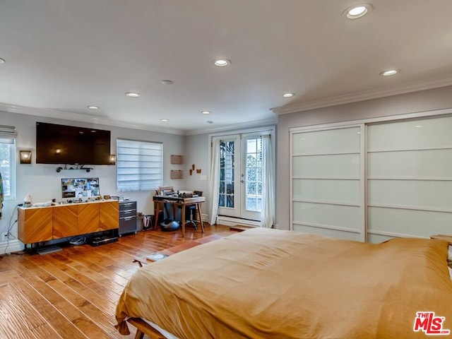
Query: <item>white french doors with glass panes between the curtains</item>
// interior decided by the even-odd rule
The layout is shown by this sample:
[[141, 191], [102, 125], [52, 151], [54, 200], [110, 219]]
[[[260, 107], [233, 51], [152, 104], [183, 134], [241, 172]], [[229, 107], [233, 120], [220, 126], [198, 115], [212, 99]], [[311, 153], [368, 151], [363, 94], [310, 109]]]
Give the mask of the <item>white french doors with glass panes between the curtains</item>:
[[221, 137], [218, 214], [260, 220], [262, 141], [256, 133]]

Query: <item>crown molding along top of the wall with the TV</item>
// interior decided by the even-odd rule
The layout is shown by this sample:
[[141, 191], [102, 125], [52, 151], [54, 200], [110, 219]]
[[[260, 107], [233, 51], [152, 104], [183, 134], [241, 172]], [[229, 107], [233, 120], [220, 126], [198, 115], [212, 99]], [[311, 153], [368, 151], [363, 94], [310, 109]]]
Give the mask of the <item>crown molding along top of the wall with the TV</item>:
[[18, 114], [28, 114], [34, 115], [36, 117], [47, 117], [53, 119], [64, 119], [71, 121], [82, 121], [88, 122], [90, 124], [99, 124], [106, 126], [114, 126], [114, 127], [123, 127], [126, 129], [141, 129], [143, 131], [151, 131], [157, 133], [169, 133], [169, 134], [177, 134], [184, 135], [184, 131], [180, 129], [165, 129], [160, 126], [151, 126], [145, 124], [131, 124], [126, 121], [117, 121], [114, 119], [108, 119], [101, 116], [90, 116], [86, 114], [78, 114], [72, 112], [64, 112], [55, 109], [44, 109], [44, 108], [32, 108], [18, 105], [10, 105], [0, 102], [0, 111], [10, 112], [10, 113], [18, 113]]

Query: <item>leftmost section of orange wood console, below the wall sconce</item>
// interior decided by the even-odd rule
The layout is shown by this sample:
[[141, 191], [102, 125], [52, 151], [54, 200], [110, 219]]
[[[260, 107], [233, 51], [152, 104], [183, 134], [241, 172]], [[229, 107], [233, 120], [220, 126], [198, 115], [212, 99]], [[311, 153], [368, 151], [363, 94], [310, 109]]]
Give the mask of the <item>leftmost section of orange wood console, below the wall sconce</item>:
[[53, 208], [19, 208], [18, 238], [24, 244], [52, 240]]

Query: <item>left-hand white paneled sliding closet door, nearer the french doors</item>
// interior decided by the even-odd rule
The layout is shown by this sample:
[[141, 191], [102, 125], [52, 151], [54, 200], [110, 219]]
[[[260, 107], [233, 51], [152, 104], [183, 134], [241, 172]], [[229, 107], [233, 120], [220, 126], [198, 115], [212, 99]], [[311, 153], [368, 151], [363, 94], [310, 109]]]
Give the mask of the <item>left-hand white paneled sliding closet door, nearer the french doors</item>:
[[364, 241], [362, 128], [290, 132], [292, 230]]

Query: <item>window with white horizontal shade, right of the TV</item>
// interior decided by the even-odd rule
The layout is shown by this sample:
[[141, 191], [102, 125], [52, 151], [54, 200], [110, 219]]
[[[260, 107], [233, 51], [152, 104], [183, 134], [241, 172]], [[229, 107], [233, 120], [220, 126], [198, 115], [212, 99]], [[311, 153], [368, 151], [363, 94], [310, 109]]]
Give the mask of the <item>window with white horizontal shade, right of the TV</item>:
[[150, 191], [163, 184], [163, 145], [117, 139], [117, 189]]

